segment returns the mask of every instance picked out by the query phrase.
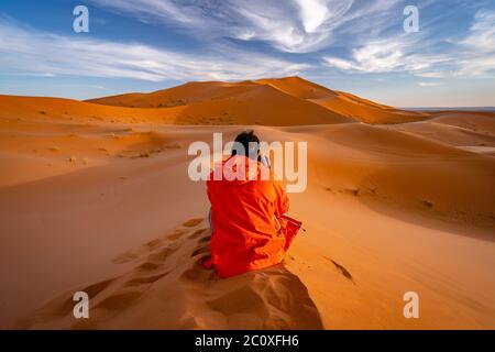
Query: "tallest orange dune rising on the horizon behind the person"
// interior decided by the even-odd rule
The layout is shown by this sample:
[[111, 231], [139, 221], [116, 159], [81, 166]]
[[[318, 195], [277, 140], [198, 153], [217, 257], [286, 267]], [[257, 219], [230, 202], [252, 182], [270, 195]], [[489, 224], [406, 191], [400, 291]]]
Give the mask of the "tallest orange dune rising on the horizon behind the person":
[[[273, 91], [272, 88], [276, 89], [278, 94]], [[227, 103], [226, 100], [230, 103]], [[242, 116], [243, 113], [239, 112], [239, 108], [242, 111], [250, 111], [250, 108], [262, 107], [263, 110], [250, 111], [251, 114], [254, 114], [251, 119], [241, 118], [237, 122], [265, 125], [279, 125], [280, 121], [285, 121], [285, 123], [282, 123], [285, 125], [300, 124], [301, 119], [304, 119], [305, 124], [319, 124], [356, 120], [366, 123], [400, 123], [429, 118], [429, 114], [425, 112], [403, 111], [378, 105], [346, 92], [330, 90], [300, 77], [260, 79], [238, 84], [189, 82], [152, 94], [130, 94], [88, 101], [133, 108], [195, 106], [196, 109], [190, 109], [190, 111], [196, 113], [190, 113], [190, 118], [201, 113], [211, 116], [207, 111], [213, 107], [218, 113], [219, 105], [221, 105], [224, 114], [229, 117]], [[270, 101], [271, 109], [264, 109], [267, 101]], [[196, 106], [198, 102], [201, 102], [201, 105]], [[235, 102], [241, 103], [241, 106], [235, 105]], [[249, 106], [245, 107], [242, 103], [249, 103]], [[327, 114], [329, 114], [327, 120], [324, 113], [315, 106], [327, 110]], [[275, 111], [282, 111], [283, 114], [275, 117], [274, 120], [270, 116]], [[260, 121], [260, 116], [263, 116], [263, 121]], [[314, 116], [323, 116], [323, 118], [316, 119]]]

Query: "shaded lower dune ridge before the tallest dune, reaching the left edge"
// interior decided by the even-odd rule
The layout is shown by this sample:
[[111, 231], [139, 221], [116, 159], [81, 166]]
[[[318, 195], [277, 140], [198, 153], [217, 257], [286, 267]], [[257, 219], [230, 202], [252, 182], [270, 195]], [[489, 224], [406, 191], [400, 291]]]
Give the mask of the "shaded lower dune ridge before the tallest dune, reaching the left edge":
[[[196, 91], [197, 89], [193, 89]], [[270, 86], [255, 85], [249, 90], [235, 90], [221, 99], [198, 99], [188, 105], [173, 108], [132, 108], [82, 102], [57, 98], [31, 98], [0, 96], [0, 107], [6, 107], [4, 116], [18, 118], [57, 119], [79, 122], [156, 122], [170, 124], [265, 124], [301, 125], [354, 122], [318, 105], [286, 95]], [[110, 102], [114, 98], [110, 98]], [[160, 103], [152, 94], [152, 101]], [[102, 101], [102, 100], [101, 100]], [[132, 101], [132, 100], [131, 100]], [[271, 109], [265, 107], [270, 105]], [[144, 105], [144, 106], [147, 106]]]

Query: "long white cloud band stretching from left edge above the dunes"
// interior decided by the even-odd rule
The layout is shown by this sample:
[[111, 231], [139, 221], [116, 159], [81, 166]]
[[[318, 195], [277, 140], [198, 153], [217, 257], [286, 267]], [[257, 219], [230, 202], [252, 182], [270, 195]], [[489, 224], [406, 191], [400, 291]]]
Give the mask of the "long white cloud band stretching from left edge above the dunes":
[[22, 29], [0, 20], [0, 67], [31, 75], [75, 75], [151, 81], [241, 80], [297, 75], [307, 66], [226, 50], [201, 55], [139, 43], [62, 36]]

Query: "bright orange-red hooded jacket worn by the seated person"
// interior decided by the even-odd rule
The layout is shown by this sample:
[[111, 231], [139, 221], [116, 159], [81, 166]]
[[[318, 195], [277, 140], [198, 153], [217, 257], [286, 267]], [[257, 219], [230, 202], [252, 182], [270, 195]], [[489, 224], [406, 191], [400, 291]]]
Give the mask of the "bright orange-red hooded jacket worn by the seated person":
[[[235, 177], [242, 170], [244, 177]], [[216, 173], [221, 179], [216, 180]], [[263, 173], [270, 175], [267, 180], [261, 180]], [[212, 224], [208, 262], [218, 275], [230, 277], [280, 263], [292, 242], [283, 228], [289, 202], [273, 173], [262, 163], [235, 155], [216, 167], [207, 188]]]

